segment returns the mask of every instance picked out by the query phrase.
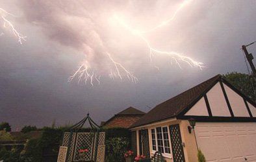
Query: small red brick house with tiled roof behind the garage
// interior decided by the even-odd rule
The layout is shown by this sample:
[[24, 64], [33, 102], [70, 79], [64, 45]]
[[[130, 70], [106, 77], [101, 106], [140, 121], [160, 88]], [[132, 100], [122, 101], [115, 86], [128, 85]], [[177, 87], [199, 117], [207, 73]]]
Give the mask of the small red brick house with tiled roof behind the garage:
[[105, 128], [129, 128], [134, 122], [138, 121], [146, 113], [129, 107], [120, 113], [114, 115], [106, 122], [101, 122], [101, 126]]

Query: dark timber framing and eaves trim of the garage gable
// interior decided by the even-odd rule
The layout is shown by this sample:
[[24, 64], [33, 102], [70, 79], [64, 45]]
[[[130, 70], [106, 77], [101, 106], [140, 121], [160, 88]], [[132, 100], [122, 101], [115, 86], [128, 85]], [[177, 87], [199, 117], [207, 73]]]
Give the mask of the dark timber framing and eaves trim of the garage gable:
[[[248, 104], [251, 104], [256, 109], [256, 103], [253, 100], [251, 100], [249, 97], [244, 95], [240, 90], [238, 90], [232, 84], [230, 84], [222, 75], [217, 75], [217, 76], [218, 78], [216, 78], [214, 82], [211, 82], [211, 84], [209, 84], [205, 89], [203, 89], [203, 91], [201, 91], [201, 93], [197, 97], [193, 98], [190, 103], [187, 103], [185, 108], [181, 108], [180, 110], [177, 110], [176, 113], [173, 113], [172, 115], [169, 115], [167, 117], [162, 117], [161, 119], [155, 119], [154, 121], [147, 122], [146, 124], [139, 124], [136, 126], [132, 126], [131, 128], [136, 128], [143, 125], [152, 124], [154, 122], [160, 122], [160, 121], [175, 119], [175, 118], [178, 120], [179, 119], [188, 120], [193, 118], [198, 122], [256, 122], [256, 116], [253, 116], [253, 113], [251, 112], [251, 108], [248, 106]], [[209, 104], [207, 93], [212, 89], [212, 87], [216, 86], [218, 82], [220, 82], [222, 93], [224, 94], [225, 102], [227, 104], [231, 117], [212, 116], [211, 105]], [[229, 87], [233, 91], [235, 91], [235, 93], [237, 93], [240, 97], [243, 98], [248, 114], [250, 115], [249, 117], [235, 117], [233, 113], [233, 109], [231, 108], [231, 104], [229, 102], [230, 98], [227, 97], [227, 93], [226, 93], [227, 89], [225, 89], [224, 85]], [[206, 104], [206, 108], [209, 113], [209, 116], [185, 115], [202, 97], [205, 100], [205, 104]]]

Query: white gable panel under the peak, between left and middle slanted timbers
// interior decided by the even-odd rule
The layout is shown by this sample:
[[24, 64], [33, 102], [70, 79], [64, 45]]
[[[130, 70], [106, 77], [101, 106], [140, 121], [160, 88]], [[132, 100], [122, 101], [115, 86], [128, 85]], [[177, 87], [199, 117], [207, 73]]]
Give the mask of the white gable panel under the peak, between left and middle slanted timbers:
[[215, 84], [215, 86], [207, 92], [207, 98], [209, 100], [212, 116], [231, 117], [220, 82]]

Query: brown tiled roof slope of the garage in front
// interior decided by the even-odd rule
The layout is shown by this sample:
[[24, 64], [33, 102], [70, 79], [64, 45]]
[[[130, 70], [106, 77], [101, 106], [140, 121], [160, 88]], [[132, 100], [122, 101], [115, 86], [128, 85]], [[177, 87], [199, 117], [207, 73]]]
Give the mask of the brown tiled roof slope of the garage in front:
[[209, 89], [209, 87], [211, 88], [214, 84], [216, 84], [218, 79], [221, 77], [221, 75], [216, 75], [209, 80], [198, 84], [198, 86], [192, 87], [191, 89], [188, 89], [187, 91], [170, 98], [165, 102], [162, 102], [150, 110], [146, 115], [144, 115], [144, 117], [135, 122], [131, 128], [161, 121], [170, 117], [175, 117], [190, 104], [192, 104], [192, 102], [194, 102], [194, 100], [196, 100], [202, 93]]

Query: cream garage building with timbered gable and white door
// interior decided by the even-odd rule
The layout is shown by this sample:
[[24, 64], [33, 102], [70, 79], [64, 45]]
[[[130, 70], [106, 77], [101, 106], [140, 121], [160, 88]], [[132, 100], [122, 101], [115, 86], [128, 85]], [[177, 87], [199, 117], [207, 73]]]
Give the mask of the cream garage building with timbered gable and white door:
[[256, 104], [221, 75], [155, 106], [130, 128], [136, 154], [169, 161], [256, 161]]

